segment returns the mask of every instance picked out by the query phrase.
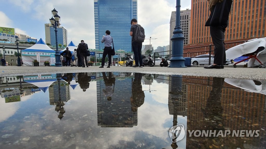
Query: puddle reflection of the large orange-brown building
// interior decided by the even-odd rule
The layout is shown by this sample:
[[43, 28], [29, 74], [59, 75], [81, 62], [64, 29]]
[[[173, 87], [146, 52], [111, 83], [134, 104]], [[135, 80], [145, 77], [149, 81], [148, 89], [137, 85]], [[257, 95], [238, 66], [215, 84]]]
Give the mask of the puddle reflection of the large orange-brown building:
[[[265, 145], [261, 138], [265, 138], [265, 131], [261, 128], [265, 128], [266, 122], [263, 111], [266, 96], [246, 92], [227, 83], [221, 87], [219, 82], [210, 77], [183, 78], [183, 85], [187, 89], [188, 130], [217, 130], [216, 134], [219, 130], [231, 130], [226, 137], [192, 135], [187, 137], [187, 147], [222, 148], [222, 143], [223, 148], [263, 148]], [[232, 137], [233, 130], [260, 130], [260, 136]]]

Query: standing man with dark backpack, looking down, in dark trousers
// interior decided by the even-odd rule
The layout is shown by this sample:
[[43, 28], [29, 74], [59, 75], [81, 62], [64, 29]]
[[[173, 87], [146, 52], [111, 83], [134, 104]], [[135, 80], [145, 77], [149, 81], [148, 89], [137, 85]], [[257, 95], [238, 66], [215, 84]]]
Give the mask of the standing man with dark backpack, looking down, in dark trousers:
[[131, 20], [131, 28], [129, 34], [130, 36], [132, 36], [131, 45], [135, 55], [135, 66], [133, 67], [142, 68], [143, 62], [141, 56], [141, 48], [142, 43], [145, 39], [145, 33], [143, 27], [138, 24], [137, 19]]

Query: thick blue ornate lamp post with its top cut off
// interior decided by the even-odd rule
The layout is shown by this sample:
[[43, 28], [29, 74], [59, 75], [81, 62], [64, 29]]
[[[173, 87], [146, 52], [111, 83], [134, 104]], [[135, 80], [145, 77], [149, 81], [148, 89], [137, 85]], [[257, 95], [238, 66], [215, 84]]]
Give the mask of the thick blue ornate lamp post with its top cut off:
[[176, 0], [176, 26], [174, 28], [174, 35], [172, 41], [172, 58], [169, 67], [172, 68], [186, 68], [185, 58], [183, 57], [184, 35], [180, 25], [180, 0]]

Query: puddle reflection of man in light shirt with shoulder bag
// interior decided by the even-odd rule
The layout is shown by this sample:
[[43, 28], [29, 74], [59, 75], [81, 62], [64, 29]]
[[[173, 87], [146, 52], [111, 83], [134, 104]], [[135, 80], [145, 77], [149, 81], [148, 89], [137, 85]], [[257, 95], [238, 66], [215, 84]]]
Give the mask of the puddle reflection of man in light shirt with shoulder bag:
[[105, 74], [105, 72], [102, 73], [103, 76], [103, 81], [105, 84], [105, 89], [103, 89], [103, 93], [105, 96], [107, 96], [107, 100], [111, 101], [112, 100], [112, 95], [114, 94], [114, 88], [113, 88], [113, 84], [115, 87], [115, 78], [112, 78], [112, 73], [109, 72], [108, 78]]

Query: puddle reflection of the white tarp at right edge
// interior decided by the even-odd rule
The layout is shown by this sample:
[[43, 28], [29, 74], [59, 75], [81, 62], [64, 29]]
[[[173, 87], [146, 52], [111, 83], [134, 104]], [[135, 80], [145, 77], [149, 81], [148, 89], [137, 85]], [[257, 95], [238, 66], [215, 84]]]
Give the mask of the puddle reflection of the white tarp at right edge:
[[235, 87], [244, 89], [247, 92], [255, 92], [266, 95], [266, 85], [262, 84], [259, 80], [245, 80], [245, 79], [228, 79], [225, 82]]

